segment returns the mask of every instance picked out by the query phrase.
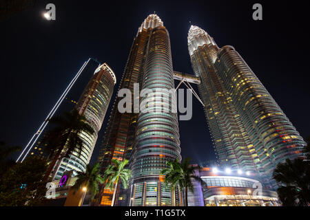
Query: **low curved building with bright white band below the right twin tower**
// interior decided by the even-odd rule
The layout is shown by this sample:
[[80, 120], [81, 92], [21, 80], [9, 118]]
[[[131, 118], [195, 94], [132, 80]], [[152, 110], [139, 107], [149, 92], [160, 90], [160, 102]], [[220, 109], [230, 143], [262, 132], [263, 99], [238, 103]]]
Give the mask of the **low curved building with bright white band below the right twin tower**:
[[204, 167], [196, 175], [205, 184], [192, 179], [194, 192], [189, 192], [189, 206], [280, 206], [276, 192], [263, 189], [258, 179], [245, 173], [233, 175]]

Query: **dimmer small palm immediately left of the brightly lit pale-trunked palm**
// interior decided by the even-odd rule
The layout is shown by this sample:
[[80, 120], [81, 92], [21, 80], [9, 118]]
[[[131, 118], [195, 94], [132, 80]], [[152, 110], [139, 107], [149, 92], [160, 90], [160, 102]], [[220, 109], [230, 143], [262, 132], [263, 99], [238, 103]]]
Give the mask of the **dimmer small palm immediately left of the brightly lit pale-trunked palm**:
[[77, 179], [75, 181], [75, 184], [74, 186], [72, 186], [74, 192], [81, 189], [82, 187], [85, 187], [86, 190], [90, 190], [90, 193], [92, 194], [92, 199], [94, 199], [94, 196], [99, 192], [99, 185], [104, 182], [103, 177], [100, 175], [99, 163], [94, 164], [94, 166], [88, 164], [86, 166], [85, 173], [78, 172], [76, 178]]

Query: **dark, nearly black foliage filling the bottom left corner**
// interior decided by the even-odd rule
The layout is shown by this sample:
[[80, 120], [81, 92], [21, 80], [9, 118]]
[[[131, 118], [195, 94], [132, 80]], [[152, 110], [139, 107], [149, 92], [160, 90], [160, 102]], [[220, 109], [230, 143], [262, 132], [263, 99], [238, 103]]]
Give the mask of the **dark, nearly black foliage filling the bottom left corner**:
[[[45, 201], [46, 182], [42, 177], [46, 162], [27, 157], [6, 171], [0, 181], [0, 206], [37, 206]], [[21, 188], [21, 184], [26, 184]]]

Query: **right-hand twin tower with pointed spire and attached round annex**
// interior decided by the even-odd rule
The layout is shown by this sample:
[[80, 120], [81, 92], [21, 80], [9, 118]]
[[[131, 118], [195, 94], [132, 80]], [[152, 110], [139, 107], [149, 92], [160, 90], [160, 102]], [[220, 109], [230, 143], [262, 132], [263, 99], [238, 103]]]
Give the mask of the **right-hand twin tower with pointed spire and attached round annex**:
[[234, 47], [218, 47], [192, 25], [188, 48], [220, 165], [242, 168], [276, 187], [273, 169], [303, 157], [304, 140]]

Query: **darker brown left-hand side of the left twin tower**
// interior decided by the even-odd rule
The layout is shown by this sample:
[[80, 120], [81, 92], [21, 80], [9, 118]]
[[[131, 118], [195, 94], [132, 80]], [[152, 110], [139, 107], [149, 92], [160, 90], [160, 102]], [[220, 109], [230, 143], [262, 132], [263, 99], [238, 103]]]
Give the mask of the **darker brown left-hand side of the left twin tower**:
[[[152, 24], [154, 22], [155, 24]], [[134, 94], [134, 83], [139, 83], [143, 75], [145, 47], [152, 30], [152, 25], [162, 24], [161, 19], [159, 19], [156, 14], [151, 14], [138, 29], [138, 33], [136, 34], [130, 49], [130, 54], [125, 65], [118, 91], [119, 89], [130, 89], [132, 94]], [[133, 98], [134, 97], [132, 96], [132, 100]], [[114, 100], [112, 113], [99, 152], [98, 162], [101, 164], [102, 172], [104, 172], [105, 168], [111, 164], [112, 159], [130, 159], [131, 156], [132, 144], [134, 142], [134, 131], [136, 129], [136, 117], [138, 113], [134, 113], [133, 107], [132, 113], [120, 113], [118, 111], [118, 103], [121, 99], [122, 98], [116, 96], [116, 99]], [[118, 187], [121, 187], [120, 184], [118, 184]], [[101, 192], [99, 205], [111, 206], [113, 192], [114, 189], [112, 191], [107, 189], [103, 190], [103, 192]], [[127, 206], [127, 193], [123, 192], [121, 195], [116, 195], [115, 203], [120, 206]]]

